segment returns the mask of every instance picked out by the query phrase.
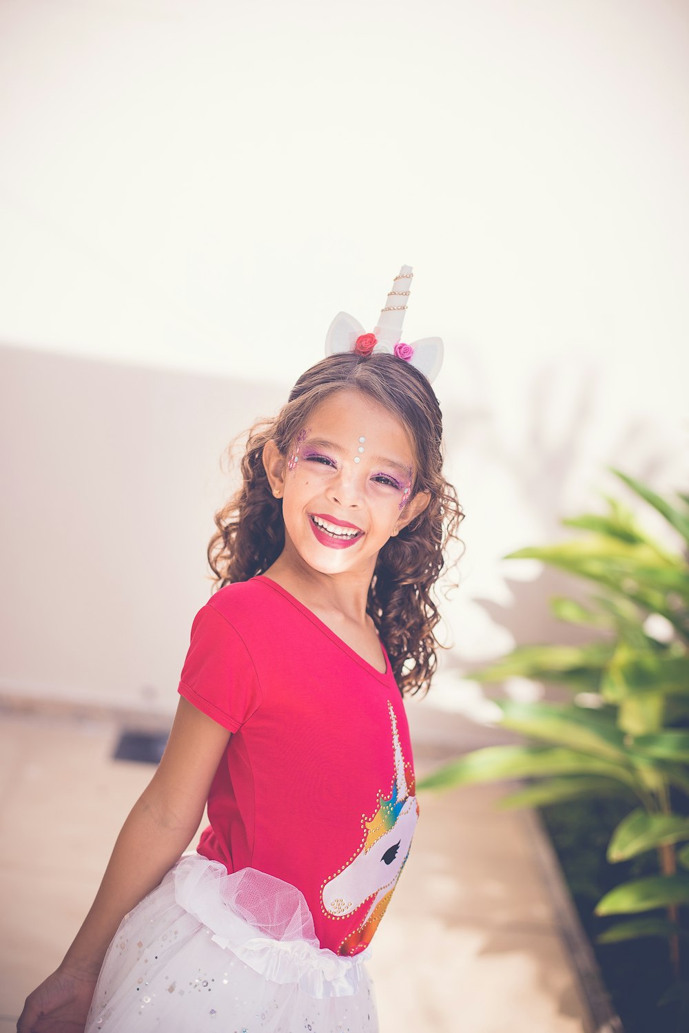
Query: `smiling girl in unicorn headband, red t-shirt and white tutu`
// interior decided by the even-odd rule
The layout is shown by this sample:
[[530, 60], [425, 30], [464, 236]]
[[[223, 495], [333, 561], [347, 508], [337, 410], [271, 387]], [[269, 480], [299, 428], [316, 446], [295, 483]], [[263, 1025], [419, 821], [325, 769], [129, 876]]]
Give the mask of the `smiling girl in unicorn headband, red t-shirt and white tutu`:
[[250, 433], [164, 755], [19, 1033], [377, 1030], [365, 962], [418, 813], [402, 697], [435, 670], [430, 592], [464, 515], [442, 343], [400, 341], [410, 280], [374, 334], [340, 313]]

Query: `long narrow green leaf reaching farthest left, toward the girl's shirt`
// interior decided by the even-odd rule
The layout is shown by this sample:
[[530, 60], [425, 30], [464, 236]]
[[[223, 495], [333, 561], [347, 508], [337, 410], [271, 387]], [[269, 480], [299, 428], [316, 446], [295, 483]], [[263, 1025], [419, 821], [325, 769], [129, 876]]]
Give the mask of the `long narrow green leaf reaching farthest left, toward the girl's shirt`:
[[634, 789], [634, 773], [598, 757], [547, 746], [486, 746], [465, 753], [430, 772], [416, 783], [417, 789], [444, 789], [456, 785], [494, 782], [501, 779], [545, 775], [601, 775]]

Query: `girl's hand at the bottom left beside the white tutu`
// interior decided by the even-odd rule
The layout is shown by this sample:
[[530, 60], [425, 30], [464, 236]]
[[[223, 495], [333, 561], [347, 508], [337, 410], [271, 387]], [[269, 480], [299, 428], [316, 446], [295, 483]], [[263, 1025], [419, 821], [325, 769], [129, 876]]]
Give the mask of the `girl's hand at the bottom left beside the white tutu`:
[[17, 1033], [84, 1033], [97, 978], [57, 969], [27, 997]]

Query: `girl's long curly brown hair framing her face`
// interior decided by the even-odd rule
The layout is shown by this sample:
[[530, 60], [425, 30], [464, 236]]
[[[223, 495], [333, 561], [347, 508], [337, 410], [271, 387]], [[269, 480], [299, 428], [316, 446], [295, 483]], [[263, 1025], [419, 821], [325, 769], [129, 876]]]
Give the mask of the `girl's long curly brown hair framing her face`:
[[464, 512], [442, 473], [442, 414], [427, 377], [390, 354], [342, 352], [303, 373], [274, 419], [249, 431], [241, 462], [242, 487], [215, 514], [217, 531], [208, 546], [214, 590], [248, 581], [275, 562], [284, 546], [282, 502], [276, 499], [262, 462], [263, 445], [275, 440], [287, 457], [309, 414], [328, 395], [345, 388], [368, 395], [407, 429], [415, 450], [412, 496], [430, 502], [378, 553], [367, 611], [390, 659], [400, 691], [427, 692], [442, 648], [433, 629], [440, 620], [432, 590], [445, 566], [444, 550]]

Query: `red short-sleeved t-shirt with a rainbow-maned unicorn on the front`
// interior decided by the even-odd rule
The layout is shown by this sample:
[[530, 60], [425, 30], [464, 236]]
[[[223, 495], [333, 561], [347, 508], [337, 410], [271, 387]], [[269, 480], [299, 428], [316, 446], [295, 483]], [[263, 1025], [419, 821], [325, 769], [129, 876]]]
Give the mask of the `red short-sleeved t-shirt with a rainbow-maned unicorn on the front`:
[[340, 954], [370, 943], [418, 814], [407, 717], [385, 663], [380, 674], [261, 575], [196, 614], [179, 687], [232, 732], [198, 852], [296, 886], [321, 946]]

